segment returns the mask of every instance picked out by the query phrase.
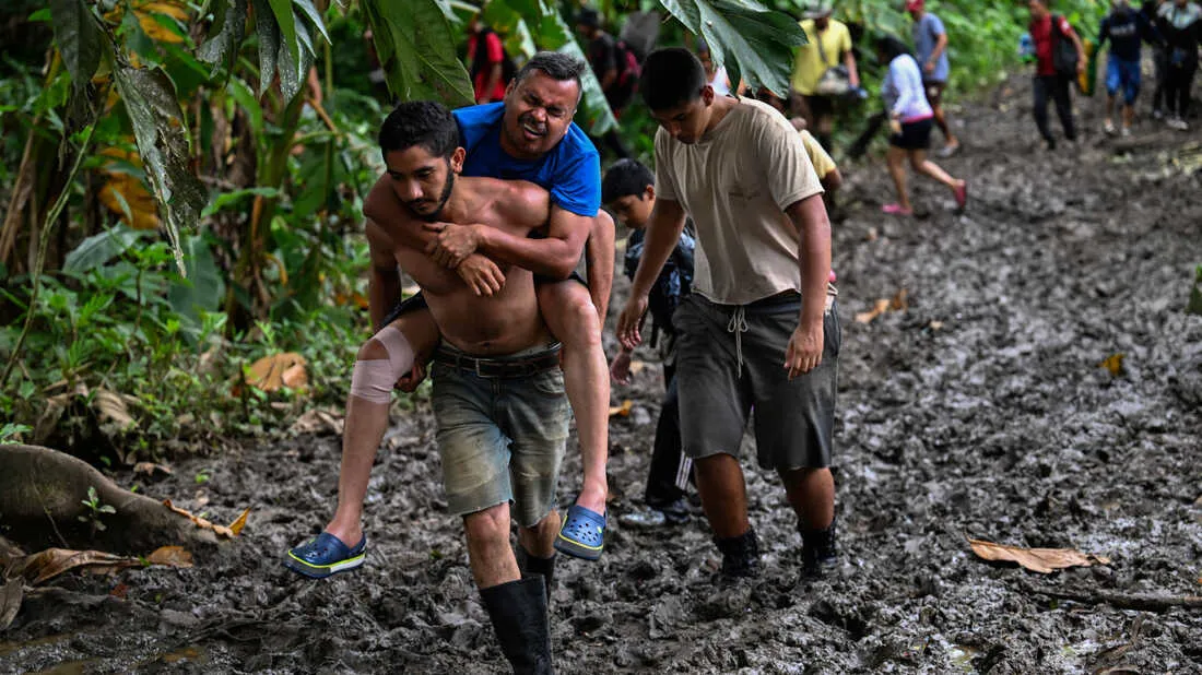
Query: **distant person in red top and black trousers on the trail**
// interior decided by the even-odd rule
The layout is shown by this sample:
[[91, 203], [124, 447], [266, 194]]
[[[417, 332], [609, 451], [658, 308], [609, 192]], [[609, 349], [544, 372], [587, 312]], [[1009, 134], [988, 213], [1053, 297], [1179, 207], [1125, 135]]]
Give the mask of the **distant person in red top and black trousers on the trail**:
[[1030, 0], [1031, 42], [1035, 44], [1035, 125], [1048, 150], [1055, 150], [1055, 138], [1048, 127], [1048, 96], [1055, 101], [1055, 112], [1070, 143], [1077, 141], [1072, 124], [1072, 98], [1069, 86], [1085, 72], [1085, 48], [1069, 20], [1048, 10], [1051, 0]]

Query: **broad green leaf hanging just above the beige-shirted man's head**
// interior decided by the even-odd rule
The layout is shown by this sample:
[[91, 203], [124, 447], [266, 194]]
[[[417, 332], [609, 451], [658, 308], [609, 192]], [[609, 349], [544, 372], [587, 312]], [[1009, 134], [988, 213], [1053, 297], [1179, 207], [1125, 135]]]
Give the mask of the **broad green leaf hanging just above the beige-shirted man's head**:
[[792, 17], [756, 10], [746, 0], [661, 2], [685, 28], [706, 38], [731, 82], [742, 78], [773, 91], [789, 90], [793, 48], [805, 44], [805, 32]]

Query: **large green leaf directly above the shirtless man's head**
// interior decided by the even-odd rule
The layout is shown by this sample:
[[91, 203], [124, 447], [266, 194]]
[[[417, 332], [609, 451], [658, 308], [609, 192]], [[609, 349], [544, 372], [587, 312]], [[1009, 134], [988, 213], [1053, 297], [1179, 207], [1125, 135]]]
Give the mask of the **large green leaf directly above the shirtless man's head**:
[[403, 101], [434, 98], [447, 107], [475, 101], [456, 56], [458, 35], [435, 0], [363, 0], [388, 89]]

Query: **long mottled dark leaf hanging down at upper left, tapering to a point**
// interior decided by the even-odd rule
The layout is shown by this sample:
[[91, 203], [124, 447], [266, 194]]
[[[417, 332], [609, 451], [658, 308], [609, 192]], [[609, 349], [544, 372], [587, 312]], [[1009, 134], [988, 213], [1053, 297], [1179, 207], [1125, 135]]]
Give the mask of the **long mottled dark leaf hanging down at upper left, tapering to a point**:
[[163, 219], [180, 274], [184, 269], [179, 232], [195, 229], [208, 193], [189, 168], [188, 131], [175, 89], [162, 68], [113, 70], [117, 90], [133, 126], [142, 166]]

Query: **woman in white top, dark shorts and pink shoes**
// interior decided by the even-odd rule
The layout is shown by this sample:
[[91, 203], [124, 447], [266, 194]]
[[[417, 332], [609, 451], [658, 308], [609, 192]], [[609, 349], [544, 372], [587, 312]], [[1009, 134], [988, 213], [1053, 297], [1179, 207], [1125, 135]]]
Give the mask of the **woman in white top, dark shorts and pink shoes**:
[[968, 203], [968, 183], [952, 178], [942, 168], [927, 159], [930, 148], [930, 130], [935, 113], [927, 102], [918, 61], [910, 54], [904, 42], [893, 36], [876, 41], [876, 56], [889, 65], [889, 72], [881, 85], [881, 97], [889, 114], [889, 175], [897, 186], [898, 201], [881, 207], [887, 214], [914, 215], [910, 193], [906, 190], [905, 160], [914, 171], [942, 183], [956, 197], [956, 205], [963, 210]]

